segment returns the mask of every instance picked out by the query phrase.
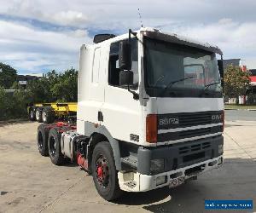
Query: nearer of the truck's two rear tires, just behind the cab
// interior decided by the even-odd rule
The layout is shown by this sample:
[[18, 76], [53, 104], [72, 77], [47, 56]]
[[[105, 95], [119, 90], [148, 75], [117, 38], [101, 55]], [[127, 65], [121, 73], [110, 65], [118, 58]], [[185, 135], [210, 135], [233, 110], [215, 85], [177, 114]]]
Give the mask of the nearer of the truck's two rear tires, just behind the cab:
[[51, 162], [55, 165], [61, 165], [65, 163], [65, 158], [61, 153], [61, 134], [57, 130], [57, 128], [49, 130], [48, 150]]

